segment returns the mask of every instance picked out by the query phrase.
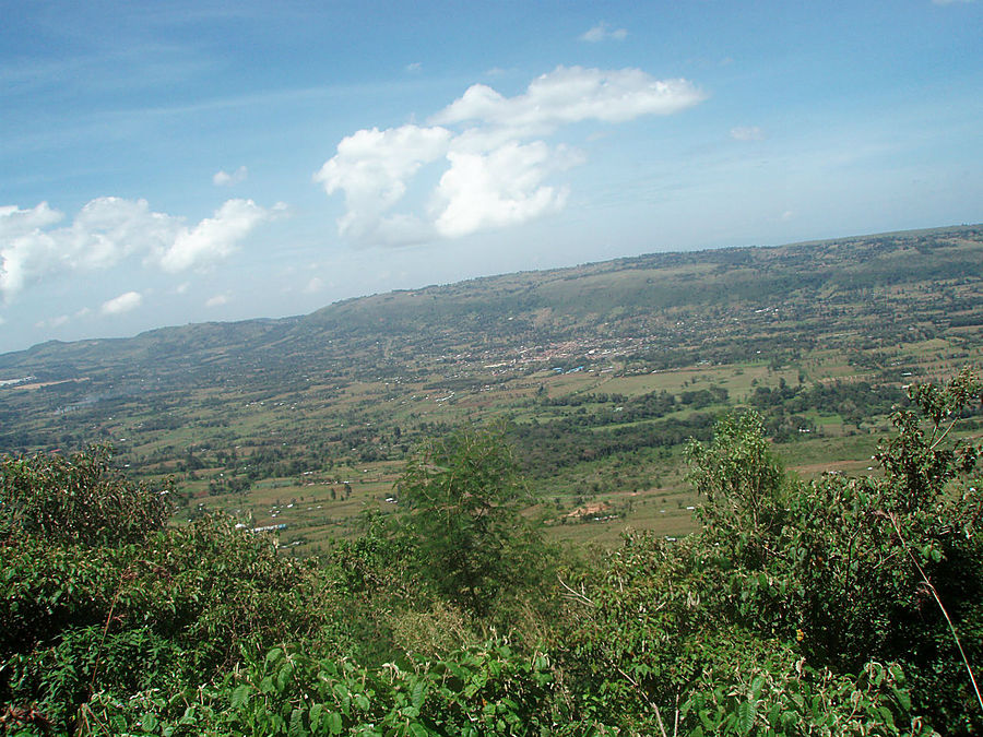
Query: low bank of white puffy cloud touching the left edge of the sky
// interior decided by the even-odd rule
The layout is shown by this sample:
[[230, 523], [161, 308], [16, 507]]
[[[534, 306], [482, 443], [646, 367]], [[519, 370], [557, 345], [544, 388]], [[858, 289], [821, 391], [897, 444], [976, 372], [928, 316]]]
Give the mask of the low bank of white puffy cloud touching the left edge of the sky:
[[228, 255], [258, 224], [279, 210], [229, 200], [192, 227], [150, 209], [146, 200], [91, 200], [72, 222], [43, 202], [28, 210], [0, 207], [0, 295], [9, 301], [29, 283], [57, 273], [106, 270], [132, 254], [166, 271]]

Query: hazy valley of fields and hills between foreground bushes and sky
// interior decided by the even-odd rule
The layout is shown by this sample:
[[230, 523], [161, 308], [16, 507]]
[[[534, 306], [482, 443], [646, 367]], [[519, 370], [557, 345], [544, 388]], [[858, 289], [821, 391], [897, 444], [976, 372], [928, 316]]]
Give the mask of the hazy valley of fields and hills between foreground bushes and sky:
[[[426, 438], [500, 423], [558, 539], [696, 524], [682, 450], [735, 407], [803, 476], [875, 473], [903, 388], [983, 365], [983, 230], [671, 253], [311, 316], [0, 356], [0, 451], [111, 443], [306, 555], [395, 510]], [[23, 379], [17, 382], [17, 379]], [[979, 418], [964, 431], [979, 432]]]

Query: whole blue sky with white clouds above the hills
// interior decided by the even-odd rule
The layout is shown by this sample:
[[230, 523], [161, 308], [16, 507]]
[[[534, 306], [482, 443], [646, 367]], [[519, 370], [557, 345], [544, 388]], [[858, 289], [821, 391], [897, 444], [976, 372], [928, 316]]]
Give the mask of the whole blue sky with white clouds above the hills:
[[0, 13], [0, 352], [983, 221], [981, 2]]

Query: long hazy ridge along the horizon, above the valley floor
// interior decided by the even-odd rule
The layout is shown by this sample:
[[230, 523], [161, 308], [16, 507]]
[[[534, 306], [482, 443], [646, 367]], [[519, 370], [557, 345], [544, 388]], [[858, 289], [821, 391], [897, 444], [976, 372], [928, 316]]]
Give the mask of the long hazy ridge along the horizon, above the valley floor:
[[[4, 375], [227, 381], [462, 349], [650, 335], [696, 312], [794, 308], [829, 319], [837, 305], [892, 285], [983, 277], [983, 226], [814, 241], [773, 248], [654, 253], [391, 292], [304, 317], [163, 328], [130, 338], [51, 341], [0, 355]], [[979, 293], [978, 293], [979, 294]], [[948, 319], [979, 318], [979, 302]], [[410, 353], [407, 346], [412, 346]]]

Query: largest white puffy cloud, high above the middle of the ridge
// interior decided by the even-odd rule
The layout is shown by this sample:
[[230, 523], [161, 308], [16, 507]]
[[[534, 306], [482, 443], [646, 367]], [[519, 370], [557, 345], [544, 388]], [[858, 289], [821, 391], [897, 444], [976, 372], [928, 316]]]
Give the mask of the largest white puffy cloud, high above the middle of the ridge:
[[[344, 192], [342, 236], [368, 245], [455, 238], [518, 225], [561, 210], [567, 187], [547, 177], [582, 155], [546, 139], [560, 127], [671, 115], [704, 98], [687, 80], [638, 69], [558, 67], [514, 97], [474, 84], [427, 126], [359, 130], [315, 175], [330, 195]], [[425, 206], [394, 212], [426, 165], [442, 171]], [[426, 194], [426, 192], [424, 192]]]

